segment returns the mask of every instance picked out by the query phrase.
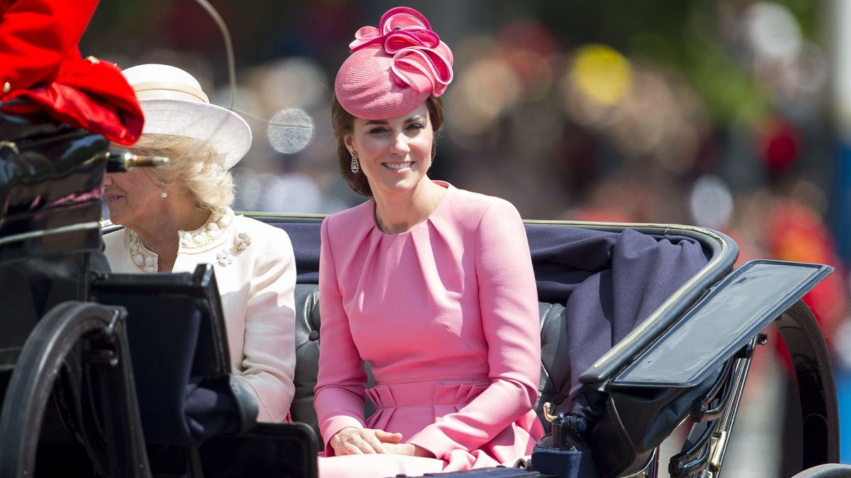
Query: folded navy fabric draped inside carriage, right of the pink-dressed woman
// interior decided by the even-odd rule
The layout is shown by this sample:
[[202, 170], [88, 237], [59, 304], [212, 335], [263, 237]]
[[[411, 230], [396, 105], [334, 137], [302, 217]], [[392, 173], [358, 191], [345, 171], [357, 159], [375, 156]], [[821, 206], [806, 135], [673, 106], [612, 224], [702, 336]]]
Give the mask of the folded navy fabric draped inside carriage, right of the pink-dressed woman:
[[[564, 408], [580, 417], [598, 411], [579, 377], [706, 263], [700, 243], [563, 226], [527, 225], [539, 299], [566, 307], [571, 386]], [[581, 391], [580, 391], [581, 390]]]

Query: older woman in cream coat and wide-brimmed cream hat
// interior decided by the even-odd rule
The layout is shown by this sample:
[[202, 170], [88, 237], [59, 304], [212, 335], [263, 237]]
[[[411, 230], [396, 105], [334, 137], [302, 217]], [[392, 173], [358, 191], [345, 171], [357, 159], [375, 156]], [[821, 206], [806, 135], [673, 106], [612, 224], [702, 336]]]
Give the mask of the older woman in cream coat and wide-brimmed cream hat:
[[104, 236], [116, 272], [191, 272], [212, 264], [225, 313], [233, 373], [257, 399], [261, 421], [287, 418], [293, 400], [295, 263], [289, 237], [230, 208], [228, 169], [248, 151], [251, 130], [208, 103], [199, 83], [168, 65], [123, 71], [145, 111], [131, 151], [167, 156], [166, 168], [108, 174], [113, 224]]

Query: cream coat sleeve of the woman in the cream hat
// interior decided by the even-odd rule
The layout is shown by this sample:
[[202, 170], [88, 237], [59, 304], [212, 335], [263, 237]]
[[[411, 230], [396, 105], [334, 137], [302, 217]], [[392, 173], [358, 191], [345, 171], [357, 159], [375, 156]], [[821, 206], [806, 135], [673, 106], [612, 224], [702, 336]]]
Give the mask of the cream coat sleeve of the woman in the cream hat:
[[254, 263], [238, 378], [254, 391], [258, 420], [283, 422], [295, 394], [295, 258], [287, 233], [270, 232]]

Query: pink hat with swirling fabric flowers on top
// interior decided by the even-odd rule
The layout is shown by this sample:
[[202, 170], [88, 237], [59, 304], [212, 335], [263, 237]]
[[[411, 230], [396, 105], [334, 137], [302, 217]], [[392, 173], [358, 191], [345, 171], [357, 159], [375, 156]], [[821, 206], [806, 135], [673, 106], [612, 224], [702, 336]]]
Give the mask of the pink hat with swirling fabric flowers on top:
[[349, 48], [334, 93], [356, 117], [403, 115], [452, 82], [452, 51], [426, 17], [408, 7], [387, 10], [378, 28], [363, 26]]

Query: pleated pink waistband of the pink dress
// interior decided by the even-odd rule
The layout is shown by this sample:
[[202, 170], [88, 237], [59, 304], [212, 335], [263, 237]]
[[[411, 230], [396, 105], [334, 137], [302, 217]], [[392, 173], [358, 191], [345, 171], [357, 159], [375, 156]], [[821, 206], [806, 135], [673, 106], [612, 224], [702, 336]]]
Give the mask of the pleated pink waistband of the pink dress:
[[467, 404], [490, 385], [489, 378], [375, 385], [367, 389], [377, 408]]

